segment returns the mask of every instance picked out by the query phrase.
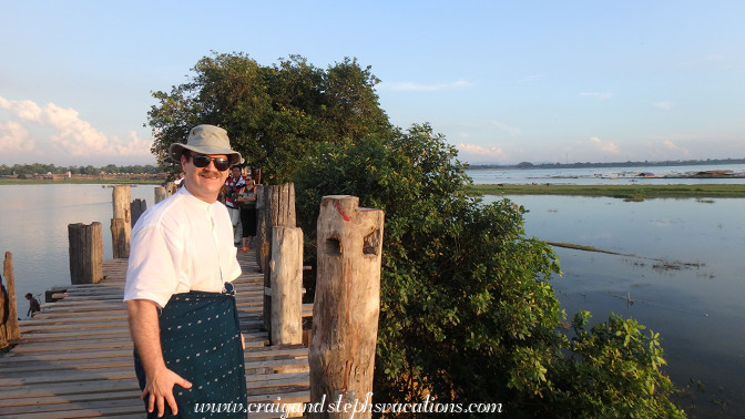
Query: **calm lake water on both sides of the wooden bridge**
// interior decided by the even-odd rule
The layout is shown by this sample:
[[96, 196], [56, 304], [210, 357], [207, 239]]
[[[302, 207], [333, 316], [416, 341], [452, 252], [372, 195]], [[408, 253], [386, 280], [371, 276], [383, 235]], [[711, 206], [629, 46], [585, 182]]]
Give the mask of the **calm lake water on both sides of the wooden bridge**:
[[[69, 284], [68, 224], [100, 222], [104, 258], [112, 257], [111, 195], [101, 185], [0, 185], [0, 251], [13, 253], [21, 318], [25, 293], [43, 297]], [[132, 198], [152, 206], [154, 186], [133, 187]], [[555, 248], [563, 275], [552, 286], [570, 319], [580, 309], [596, 321], [611, 311], [635, 318], [661, 334], [665, 370], [684, 388], [678, 403], [691, 416], [742, 416], [744, 198], [510, 198], [530, 211], [529, 236], [624, 254]]]

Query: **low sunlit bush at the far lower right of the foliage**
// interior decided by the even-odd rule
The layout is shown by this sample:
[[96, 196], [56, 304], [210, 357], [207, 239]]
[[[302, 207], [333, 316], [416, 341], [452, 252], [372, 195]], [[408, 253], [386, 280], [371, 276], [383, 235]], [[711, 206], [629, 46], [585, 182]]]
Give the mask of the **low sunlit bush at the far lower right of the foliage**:
[[554, 412], [581, 418], [683, 418], [670, 400], [673, 385], [660, 367], [665, 365], [660, 334], [644, 334], [633, 319], [611, 315], [588, 331], [590, 313], [574, 315], [575, 337], [567, 358], [555, 370], [561, 385]]

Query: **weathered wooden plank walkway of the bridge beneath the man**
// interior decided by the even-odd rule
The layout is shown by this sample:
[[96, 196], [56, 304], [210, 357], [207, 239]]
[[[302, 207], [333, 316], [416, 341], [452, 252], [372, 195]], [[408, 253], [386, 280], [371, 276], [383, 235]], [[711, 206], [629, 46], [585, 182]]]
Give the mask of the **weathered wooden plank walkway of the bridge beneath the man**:
[[[238, 255], [243, 274], [234, 284], [246, 338], [248, 401], [307, 402], [308, 349], [267, 346], [267, 334], [259, 330], [263, 275], [253, 254]], [[122, 303], [126, 259], [106, 260], [103, 270], [101, 283], [68, 286], [64, 299], [21, 321], [20, 343], [0, 355], [0, 418], [144, 416]]]

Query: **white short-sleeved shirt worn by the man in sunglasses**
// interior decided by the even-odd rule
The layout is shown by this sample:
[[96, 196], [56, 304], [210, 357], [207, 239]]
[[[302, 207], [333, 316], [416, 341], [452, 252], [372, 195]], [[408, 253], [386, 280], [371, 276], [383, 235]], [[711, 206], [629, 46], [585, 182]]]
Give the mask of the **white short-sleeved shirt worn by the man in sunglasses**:
[[132, 229], [124, 300], [150, 299], [164, 307], [173, 294], [221, 293], [223, 283], [238, 275], [227, 208], [182, 187], [145, 211]]

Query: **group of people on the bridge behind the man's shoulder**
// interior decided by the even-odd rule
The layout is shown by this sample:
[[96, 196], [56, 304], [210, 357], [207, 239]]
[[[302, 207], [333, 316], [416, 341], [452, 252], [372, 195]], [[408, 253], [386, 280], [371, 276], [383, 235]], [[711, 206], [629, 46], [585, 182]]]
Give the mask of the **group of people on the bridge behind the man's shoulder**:
[[222, 198], [231, 215], [235, 246], [241, 252], [251, 251], [256, 236], [256, 182], [253, 174], [244, 175], [241, 166], [233, 166]]

